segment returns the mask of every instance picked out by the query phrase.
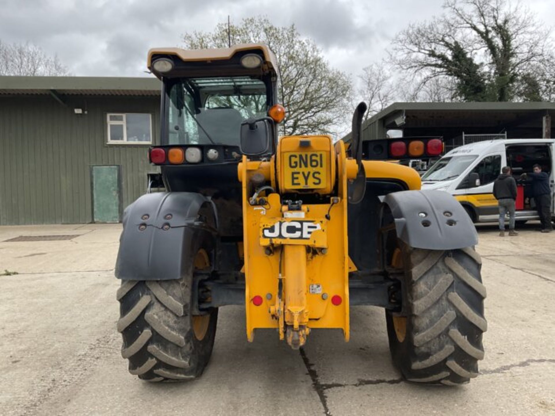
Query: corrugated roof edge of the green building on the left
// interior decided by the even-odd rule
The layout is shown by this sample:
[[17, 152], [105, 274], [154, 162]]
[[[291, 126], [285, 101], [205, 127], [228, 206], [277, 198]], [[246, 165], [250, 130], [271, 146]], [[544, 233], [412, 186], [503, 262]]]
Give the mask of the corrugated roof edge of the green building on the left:
[[159, 95], [157, 78], [0, 77], [0, 94]]

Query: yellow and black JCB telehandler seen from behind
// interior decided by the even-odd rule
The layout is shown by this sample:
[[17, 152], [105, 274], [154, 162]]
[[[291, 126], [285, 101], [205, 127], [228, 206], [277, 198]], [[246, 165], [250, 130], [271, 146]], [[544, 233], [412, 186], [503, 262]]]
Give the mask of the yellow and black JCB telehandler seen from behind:
[[374, 305], [407, 380], [477, 376], [486, 290], [476, 230], [451, 195], [419, 190], [415, 170], [384, 161], [403, 146], [437, 156], [440, 140], [362, 141], [364, 103], [347, 145], [278, 139], [285, 110], [263, 44], [152, 49], [148, 68], [162, 80], [161, 145], [149, 159], [166, 192], [143, 195], [123, 219], [117, 328], [130, 373], [199, 377], [221, 306], [245, 306], [249, 341], [277, 328], [300, 348], [322, 328], [349, 341], [350, 308]]

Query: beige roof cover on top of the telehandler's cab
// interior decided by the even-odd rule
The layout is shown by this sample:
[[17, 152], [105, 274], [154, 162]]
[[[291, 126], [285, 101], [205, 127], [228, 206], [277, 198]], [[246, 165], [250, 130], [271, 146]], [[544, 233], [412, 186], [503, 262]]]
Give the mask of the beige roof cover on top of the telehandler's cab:
[[278, 70], [278, 60], [274, 53], [264, 43], [240, 43], [233, 45], [231, 48], [225, 49], [180, 49], [180, 48], [153, 48], [148, 51], [147, 67], [151, 69], [152, 56], [159, 55], [176, 55], [183, 61], [201, 61], [201, 60], [220, 60], [230, 59], [236, 52], [241, 50], [259, 49], [264, 53], [264, 59], [269, 67]]

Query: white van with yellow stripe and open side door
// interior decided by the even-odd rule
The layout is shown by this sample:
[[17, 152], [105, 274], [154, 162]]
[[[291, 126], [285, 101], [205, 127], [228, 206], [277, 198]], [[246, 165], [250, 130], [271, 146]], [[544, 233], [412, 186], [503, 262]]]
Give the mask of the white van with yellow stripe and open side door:
[[493, 181], [501, 174], [503, 166], [510, 166], [518, 185], [516, 219], [537, 220], [531, 186], [519, 183], [519, 177], [523, 173], [532, 173], [532, 166], [539, 164], [550, 177], [551, 212], [555, 216], [554, 156], [555, 140], [552, 139], [488, 140], [467, 144], [438, 160], [422, 176], [422, 189], [450, 192], [474, 222], [496, 221], [499, 211], [493, 196]]

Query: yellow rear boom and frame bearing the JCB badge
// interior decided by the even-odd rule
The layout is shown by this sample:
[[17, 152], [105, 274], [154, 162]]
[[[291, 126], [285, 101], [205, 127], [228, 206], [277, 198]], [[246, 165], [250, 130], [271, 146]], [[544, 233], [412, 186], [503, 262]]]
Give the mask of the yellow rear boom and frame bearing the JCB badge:
[[[318, 163], [310, 167], [311, 157]], [[347, 165], [353, 162], [346, 159], [344, 144], [334, 146], [329, 136], [281, 138], [269, 164], [243, 157], [239, 176], [249, 341], [257, 328], [279, 328], [280, 338], [287, 338], [293, 347], [304, 344], [311, 328], [339, 328], [349, 339]], [[274, 189], [282, 194], [297, 189], [323, 194], [321, 203], [290, 209], [282, 194], [270, 191], [263, 203], [251, 205], [251, 177], [257, 173], [274, 177], [273, 169], [279, 178], [279, 184], [272, 181]], [[351, 166], [351, 175], [356, 171]], [[318, 180], [310, 182], [315, 172]], [[304, 185], [310, 187], [297, 188], [295, 178], [303, 174], [308, 178]]]

